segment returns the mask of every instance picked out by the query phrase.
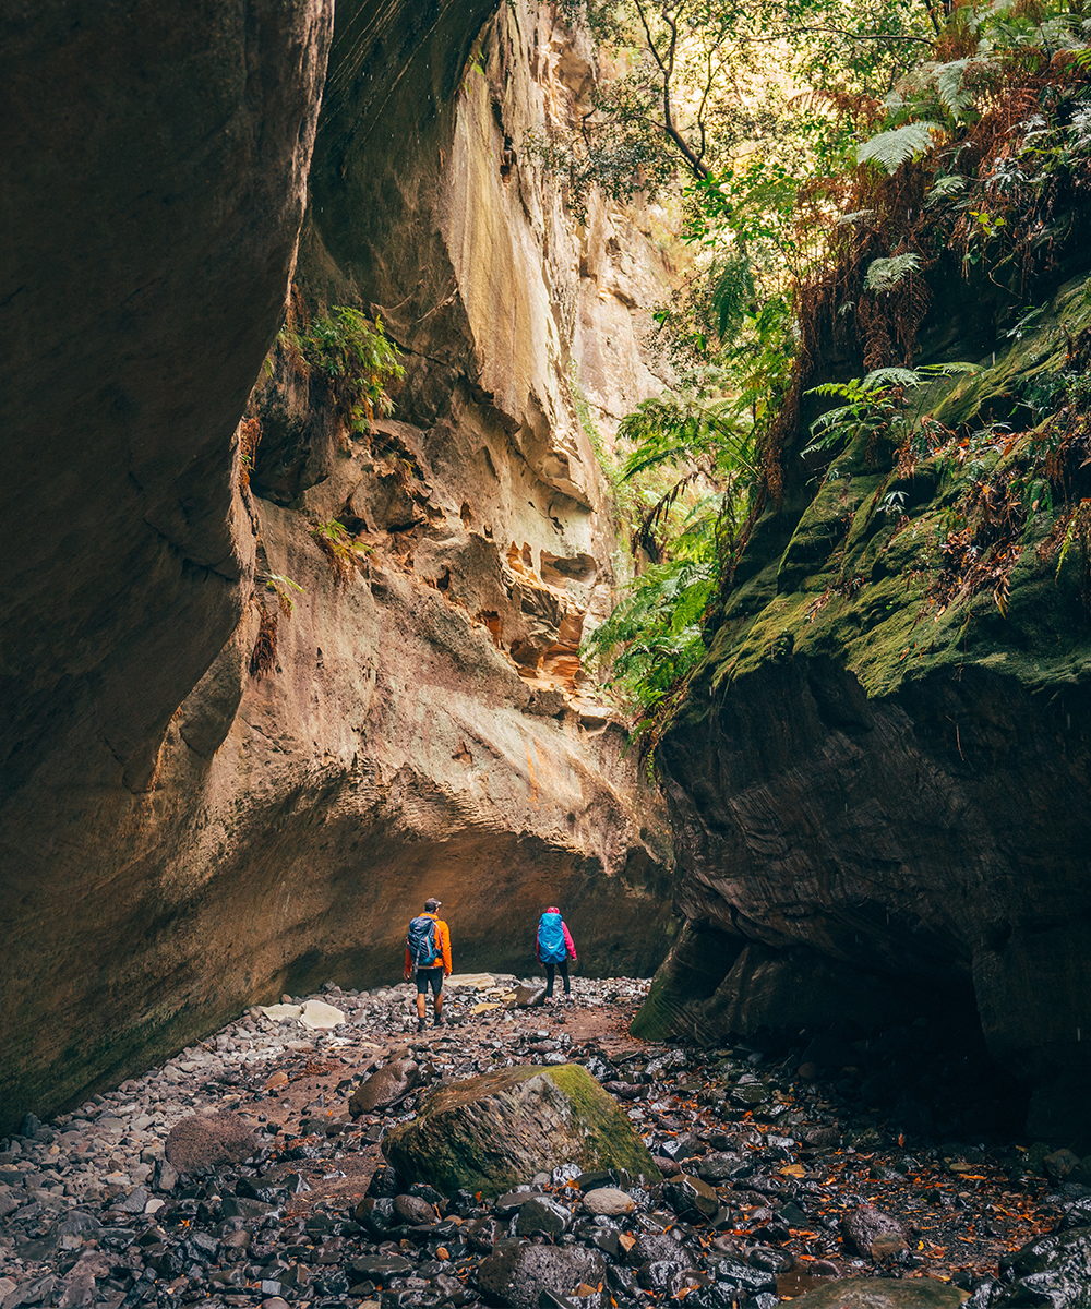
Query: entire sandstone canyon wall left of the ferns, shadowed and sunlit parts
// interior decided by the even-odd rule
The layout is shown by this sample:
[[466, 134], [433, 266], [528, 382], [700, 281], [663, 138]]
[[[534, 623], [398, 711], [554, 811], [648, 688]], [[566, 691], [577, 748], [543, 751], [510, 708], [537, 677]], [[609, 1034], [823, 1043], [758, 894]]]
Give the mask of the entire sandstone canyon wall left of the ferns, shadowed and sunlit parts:
[[[0, 1130], [246, 1003], [392, 979], [428, 894], [456, 967], [532, 966], [561, 902], [587, 966], [652, 969], [663, 814], [574, 679], [613, 583], [578, 322], [617, 397], [656, 384], [621, 247], [595, 254], [621, 217], [576, 233], [533, 154], [589, 52], [519, 4], [338, 7], [297, 281], [405, 352], [361, 436], [291, 352], [259, 367], [329, 10], [160, 7], [155, 41], [109, 9], [73, 38], [54, 9], [13, 34], [37, 164], [4, 190], [47, 335], [8, 352]], [[83, 137], [43, 63], [65, 106], [84, 88]], [[633, 276], [665, 274], [631, 240]], [[348, 552], [322, 548], [333, 521]]]

